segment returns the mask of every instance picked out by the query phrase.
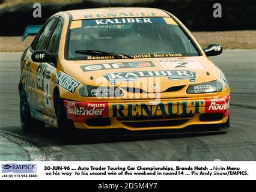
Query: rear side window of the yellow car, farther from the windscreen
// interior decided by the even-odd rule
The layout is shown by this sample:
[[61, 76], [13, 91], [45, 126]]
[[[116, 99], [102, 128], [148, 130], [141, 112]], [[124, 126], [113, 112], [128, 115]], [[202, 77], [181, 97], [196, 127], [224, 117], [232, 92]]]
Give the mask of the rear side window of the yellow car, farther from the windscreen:
[[52, 28], [54, 27], [54, 24], [56, 22], [56, 19], [52, 19], [47, 23], [45, 26], [43, 32], [39, 35], [37, 44], [35, 46], [35, 50], [42, 50], [46, 46], [47, 39], [50, 35], [50, 32], [52, 31]]

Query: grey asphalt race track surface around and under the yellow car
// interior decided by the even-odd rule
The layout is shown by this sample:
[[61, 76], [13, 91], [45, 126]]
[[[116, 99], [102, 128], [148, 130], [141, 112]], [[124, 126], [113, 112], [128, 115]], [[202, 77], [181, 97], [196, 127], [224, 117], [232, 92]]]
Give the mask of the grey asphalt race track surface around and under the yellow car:
[[19, 120], [21, 53], [0, 53], [0, 160], [256, 160], [256, 50], [226, 50], [211, 59], [231, 88], [225, 134], [92, 136], [61, 143], [55, 128], [24, 134]]

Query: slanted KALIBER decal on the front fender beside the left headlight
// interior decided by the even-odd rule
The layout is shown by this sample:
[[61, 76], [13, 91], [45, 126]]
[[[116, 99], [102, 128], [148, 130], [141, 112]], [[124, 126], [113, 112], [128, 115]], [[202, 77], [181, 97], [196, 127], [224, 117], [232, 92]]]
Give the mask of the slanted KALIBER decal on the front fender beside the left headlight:
[[62, 72], [57, 75], [55, 83], [66, 89], [67, 91], [71, 92], [72, 94], [75, 93], [76, 88], [78, 88], [78, 86], [80, 85], [78, 81]]

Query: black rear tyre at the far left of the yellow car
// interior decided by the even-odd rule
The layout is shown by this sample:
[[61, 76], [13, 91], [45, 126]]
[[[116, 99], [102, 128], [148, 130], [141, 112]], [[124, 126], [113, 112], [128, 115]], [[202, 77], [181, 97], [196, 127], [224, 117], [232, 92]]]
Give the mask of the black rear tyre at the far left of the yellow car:
[[20, 86], [20, 124], [25, 133], [42, 131], [45, 123], [32, 118], [23, 86]]

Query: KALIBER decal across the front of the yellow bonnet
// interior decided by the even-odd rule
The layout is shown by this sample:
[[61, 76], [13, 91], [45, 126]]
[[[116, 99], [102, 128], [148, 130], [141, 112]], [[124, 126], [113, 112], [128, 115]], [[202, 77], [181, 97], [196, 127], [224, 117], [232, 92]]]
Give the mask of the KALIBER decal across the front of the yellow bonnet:
[[132, 82], [136, 81], [139, 77], [168, 77], [169, 80], [183, 80], [189, 79], [195, 82], [195, 73], [190, 70], [168, 70], [168, 71], [134, 71], [123, 73], [107, 73], [106, 79], [109, 80], [111, 85], [117, 82]]

